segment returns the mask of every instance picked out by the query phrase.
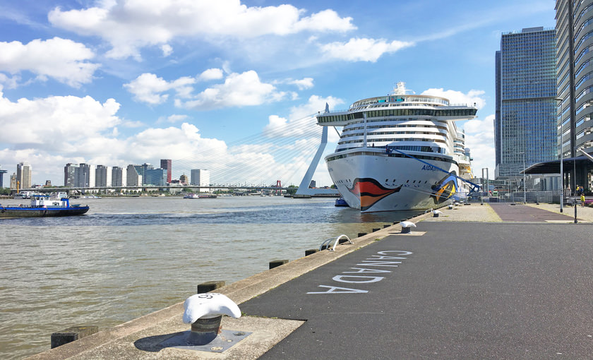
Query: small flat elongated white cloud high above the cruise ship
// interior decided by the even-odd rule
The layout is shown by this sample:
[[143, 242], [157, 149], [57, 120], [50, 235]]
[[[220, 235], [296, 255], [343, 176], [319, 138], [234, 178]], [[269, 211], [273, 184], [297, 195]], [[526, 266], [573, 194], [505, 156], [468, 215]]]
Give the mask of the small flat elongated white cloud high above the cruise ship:
[[325, 59], [339, 59], [344, 61], [377, 61], [383, 54], [397, 52], [405, 47], [411, 47], [414, 42], [393, 40], [375, 40], [366, 38], [352, 38], [348, 42], [332, 42], [320, 45]]

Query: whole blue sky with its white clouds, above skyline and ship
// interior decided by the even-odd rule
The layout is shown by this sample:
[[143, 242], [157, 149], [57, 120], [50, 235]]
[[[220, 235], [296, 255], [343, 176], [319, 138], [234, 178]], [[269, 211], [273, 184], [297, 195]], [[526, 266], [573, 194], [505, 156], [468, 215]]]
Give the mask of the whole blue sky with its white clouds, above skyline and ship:
[[[492, 177], [501, 33], [553, 28], [554, 4], [0, 0], [1, 168], [28, 161], [35, 184], [62, 185], [66, 162], [168, 158], [176, 179], [194, 167], [215, 183], [298, 185], [319, 141], [307, 116], [404, 81], [477, 103], [458, 125], [474, 174]], [[336, 140], [330, 129], [326, 153]], [[323, 162], [314, 179], [331, 184]]]

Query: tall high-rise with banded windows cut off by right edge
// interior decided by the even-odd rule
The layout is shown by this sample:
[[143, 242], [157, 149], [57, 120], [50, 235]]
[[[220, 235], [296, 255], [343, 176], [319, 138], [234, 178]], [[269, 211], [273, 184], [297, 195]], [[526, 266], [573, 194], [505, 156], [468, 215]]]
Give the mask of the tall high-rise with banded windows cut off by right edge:
[[[593, 152], [593, 0], [556, 0], [557, 145], [562, 157]], [[575, 174], [576, 171], [576, 174]], [[585, 167], [568, 167], [564, 184], [590, 184]], [[590, 187], [590, 186], [589, 186]]]

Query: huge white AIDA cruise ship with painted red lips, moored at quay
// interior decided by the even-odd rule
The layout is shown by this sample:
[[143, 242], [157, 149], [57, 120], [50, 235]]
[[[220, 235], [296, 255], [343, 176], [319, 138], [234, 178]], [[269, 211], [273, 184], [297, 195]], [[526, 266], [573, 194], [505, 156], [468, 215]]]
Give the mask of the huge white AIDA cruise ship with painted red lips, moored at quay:
[[393, 93], [317, 115], [318, 125], [342, 127], [325, 157], [350, 208], [361, 212], [426, 210], [464, 196], [471, 183], [469, 149], [455, 121], [476, 117], [474, 106], [444, 97]]

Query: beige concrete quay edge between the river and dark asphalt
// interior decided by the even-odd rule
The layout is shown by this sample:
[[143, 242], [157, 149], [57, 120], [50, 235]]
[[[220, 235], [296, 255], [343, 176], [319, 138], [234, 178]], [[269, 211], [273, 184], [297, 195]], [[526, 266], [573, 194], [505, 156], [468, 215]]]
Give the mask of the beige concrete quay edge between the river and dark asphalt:
[[[431, 213], [426, 212], [424, 214], [418, 215], [417, 217], [414, 217], [413, 219], [411, 219], [411, 221], [418, 222], [421, 220], [425, 220], [430, 216]], [[385, 227], [383, 229], [379, 229], [376, 232], [372, 232], [370, 234], [360, 236], [356, 239], [352, 239], [354, 244], [340, 244], [339, 246], [335, 247], [335, 251], [319, 251], [309, 256], [292, 260], [289, 263], [279, 266], [277, 268], [265, 270], [256, 275], [252, 275], [251, 277], [247, 277], [244, 280], [239, 280], [232, 284], [228, 284], [224, 287], [221, 287], [220, 289], [217, 289], [215, 292], [228, 296], [229, 299], [235, 301], [236, 304], [241, 304], [244, 301], [253, 299], [254, 297], [260, 294], [268, 292], [270, 289], [273, 289], [274, 287], [277, 287], [280, 284], [284, 284], [285, 282], [288, 282], [289, 280], [292, 280], [295, 277], [299, 277], [300, 275], [303, 275], [306, 272], [319, 268], [325, 264], [331, 263], [334, 260], [337, 260], [338, 258], [347, 255], [348, 253], [357, 251], [359, 248], [362, 248], [369, 244], [373, 244], [373, 242], [377, 240], [383, 239], [386, 236], [393, 235], [394, 233], [400, 231], [400, 225], [393, 224], [390, 227]], [[188, 296], [189, 295], [191, 294], [188, 294]], [[248, 346], [241, 347], [244, 349], [244, 352], [241, 352], [240, 354], [237, 354], [235, 350], [233, 352], [227, 351], [228, 354], [227, 352], [224, 352], [223, 354], [205, 353], [200, 355], [198, 355], [198, 353], [196, 352], [191, 352], [191, 354], [188, 354], [187, 351], [174, 351], [176, 349], [172, 349], [173, 351], [169, 351], [169, 349], [166, 349], [166, 352], [161, 351], [145, 353], [142, 352], [142, 350], [136, 349], [134, 347], [118, 346], [117, 343], [120, 340], [123, 341], [124, 339], [126, 339], [125, 343], [129, 345], [131, 343], [131, 340], [133, 340], [133, 335], [135, 334], [142, 334], [148, 336], [152, 335], [154, 337], [158, 334], [162, 335], [162, 331], [164, 330], [164, 328], [167, 328], [169, 330], [175, 330], [177, 332], [188, 330], [189, 325], [186, 325], [181, 322], [181, 314], [183, 312], [184, 301], [181, 301], [178, 304], [168, 306], [167, 308], [163, 308], [159, 311], [155, 311], [145, 316], [141, 316], [140, 318], [136, 318], [126, 323], [116, 325], [113, 328], [102, 329], [100, 330], [100, 332], [97, 332], [88, 337], [83, 337], [82, 339], [61, 345], [60, 347], [56, 347], [54, 349], [50, 349], [39, 354], [29, 356], [27, 359], [103, 359], [106, 357], [113, 359], [138, 359], [138, 357], [140, 356], [143, 359], [257, 359], [258, 356], [268, 351], [268, 349], [270, 349], [277, 342], [280, 342], [282, 338], [286, 337], [290, 333], [287, 332], [282, 337], [276, 336], [276, 341], [274, 343], [268, 343], [267, 348], [259, 349], [260, 353], [253, 352], [253, 347]], [[239, 325], [241, 323], [241, 320], [248, 321], [249, 317], [241, 317], [239, 319], [225, 317], [223, 320], [223, 329], [227, 328], [227, 323]], [[294, 320], [273, 319], [272, 322], [274, 324], [266, 323], [265, 326], [263, 326], [263, 328], [270, 332], [269, 330], [277, 326], [275, 325], [275, 323], [277, 322], [278, 326], [280, 326], [283, 329], [292, 327], [292, 330], [294, 330], [302, 324], [301, 322], [297, 325], [284, 325], [284, 323], [287, 321]], [[162, 326], [162, 324], [167, 324], [167, 326]], [[261, 347], [261, 344], [258, 344], [258, 346]], [[108, 352], [108, 354], [105, 354], [104, 351], [97, 350], [100, 348], [112, 349], [113, 352]], [[92, 354], [93, 352], [96, 353], [95, 356]], [[121, 352], [126, 353], [122, 354]]]

